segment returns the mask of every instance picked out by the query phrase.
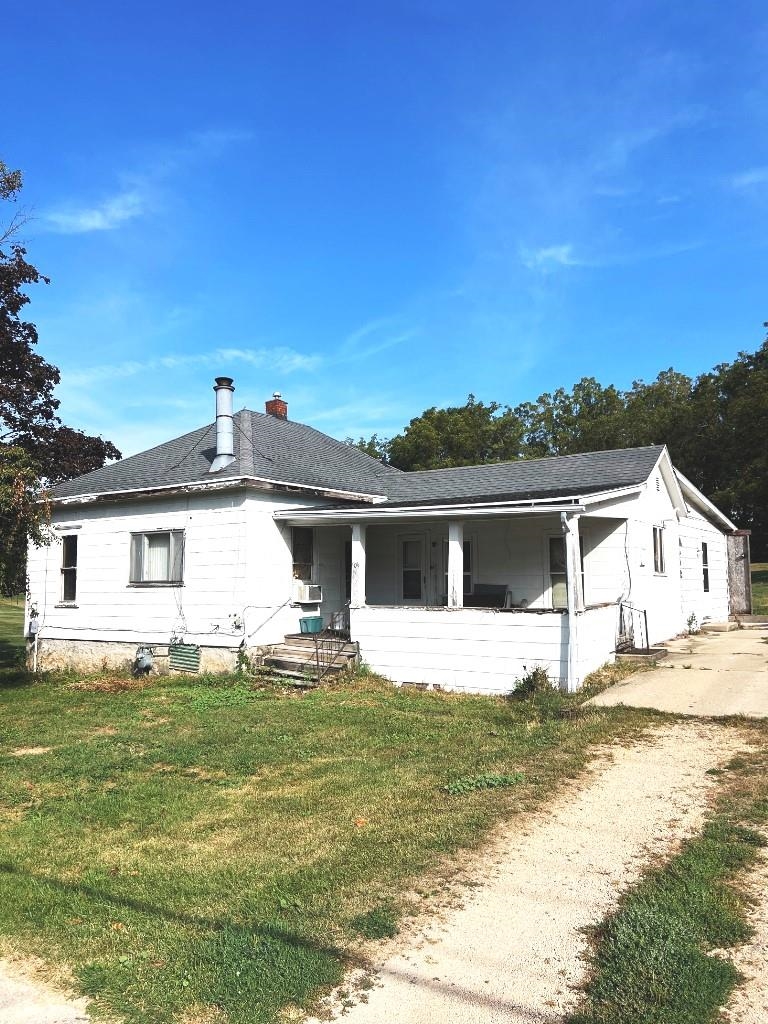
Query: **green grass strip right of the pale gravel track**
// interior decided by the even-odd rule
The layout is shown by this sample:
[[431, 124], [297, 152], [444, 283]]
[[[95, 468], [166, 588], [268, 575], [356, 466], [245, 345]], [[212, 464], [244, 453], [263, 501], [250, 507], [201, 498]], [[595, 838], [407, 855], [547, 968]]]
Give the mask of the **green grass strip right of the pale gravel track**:
[[[757, 730], [756, 730], [757, 732]], [[596, 933], [594, 976], [567, 1024], [708, 1024], [721, 1020], [738, 976], [712, 950], [744, 941], [738, 872], [765, 845], [768, 756], [734, 759], [702, 833], [651, 870]]]

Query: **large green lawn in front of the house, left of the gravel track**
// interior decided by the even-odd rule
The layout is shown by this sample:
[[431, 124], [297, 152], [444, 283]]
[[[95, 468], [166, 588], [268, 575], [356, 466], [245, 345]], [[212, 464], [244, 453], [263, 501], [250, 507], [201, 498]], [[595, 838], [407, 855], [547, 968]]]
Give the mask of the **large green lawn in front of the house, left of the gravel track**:
[[0, 934], [127, 1024], [310, 1002], [446, 855], [652, 720], [375, 678], [303, 696], [237, 677], [0, 680]]

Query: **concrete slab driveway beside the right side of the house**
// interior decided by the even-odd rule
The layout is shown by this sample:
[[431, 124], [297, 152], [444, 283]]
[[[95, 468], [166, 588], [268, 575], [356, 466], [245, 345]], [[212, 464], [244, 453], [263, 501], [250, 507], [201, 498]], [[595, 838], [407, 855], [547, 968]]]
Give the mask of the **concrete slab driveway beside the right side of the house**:
[[768, 629], [683, 637], [663, 665], [630, 676], [588, 703], [681, 715], [768, 718]]

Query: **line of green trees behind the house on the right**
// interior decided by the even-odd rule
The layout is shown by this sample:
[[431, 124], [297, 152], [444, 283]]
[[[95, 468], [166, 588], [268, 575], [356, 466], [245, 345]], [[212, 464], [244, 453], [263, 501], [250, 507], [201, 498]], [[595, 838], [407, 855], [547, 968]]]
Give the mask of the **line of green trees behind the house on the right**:
[[626, 391], [583, 377], [514, 408], [470, 394], [394, 437], [348, 441], [403, 470], [667, 444], [675, 466], [753, 531], [753, 558], [768, 559], [768, 340], [697, 377], [670, 367]]

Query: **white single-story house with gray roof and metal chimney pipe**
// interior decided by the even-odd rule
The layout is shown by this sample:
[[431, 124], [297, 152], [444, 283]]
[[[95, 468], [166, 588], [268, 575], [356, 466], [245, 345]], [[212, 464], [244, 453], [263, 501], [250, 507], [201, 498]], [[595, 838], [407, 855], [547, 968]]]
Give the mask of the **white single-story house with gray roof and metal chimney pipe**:
[[231, 668], [322, 615], [395, 682], [503, 693], [544, 666], [572, 690], [621, 634], [728, 617], [735, 526], [663, 445], [403, 473], [214, 390], [215, 423], [54, 488], [40, 667]]

